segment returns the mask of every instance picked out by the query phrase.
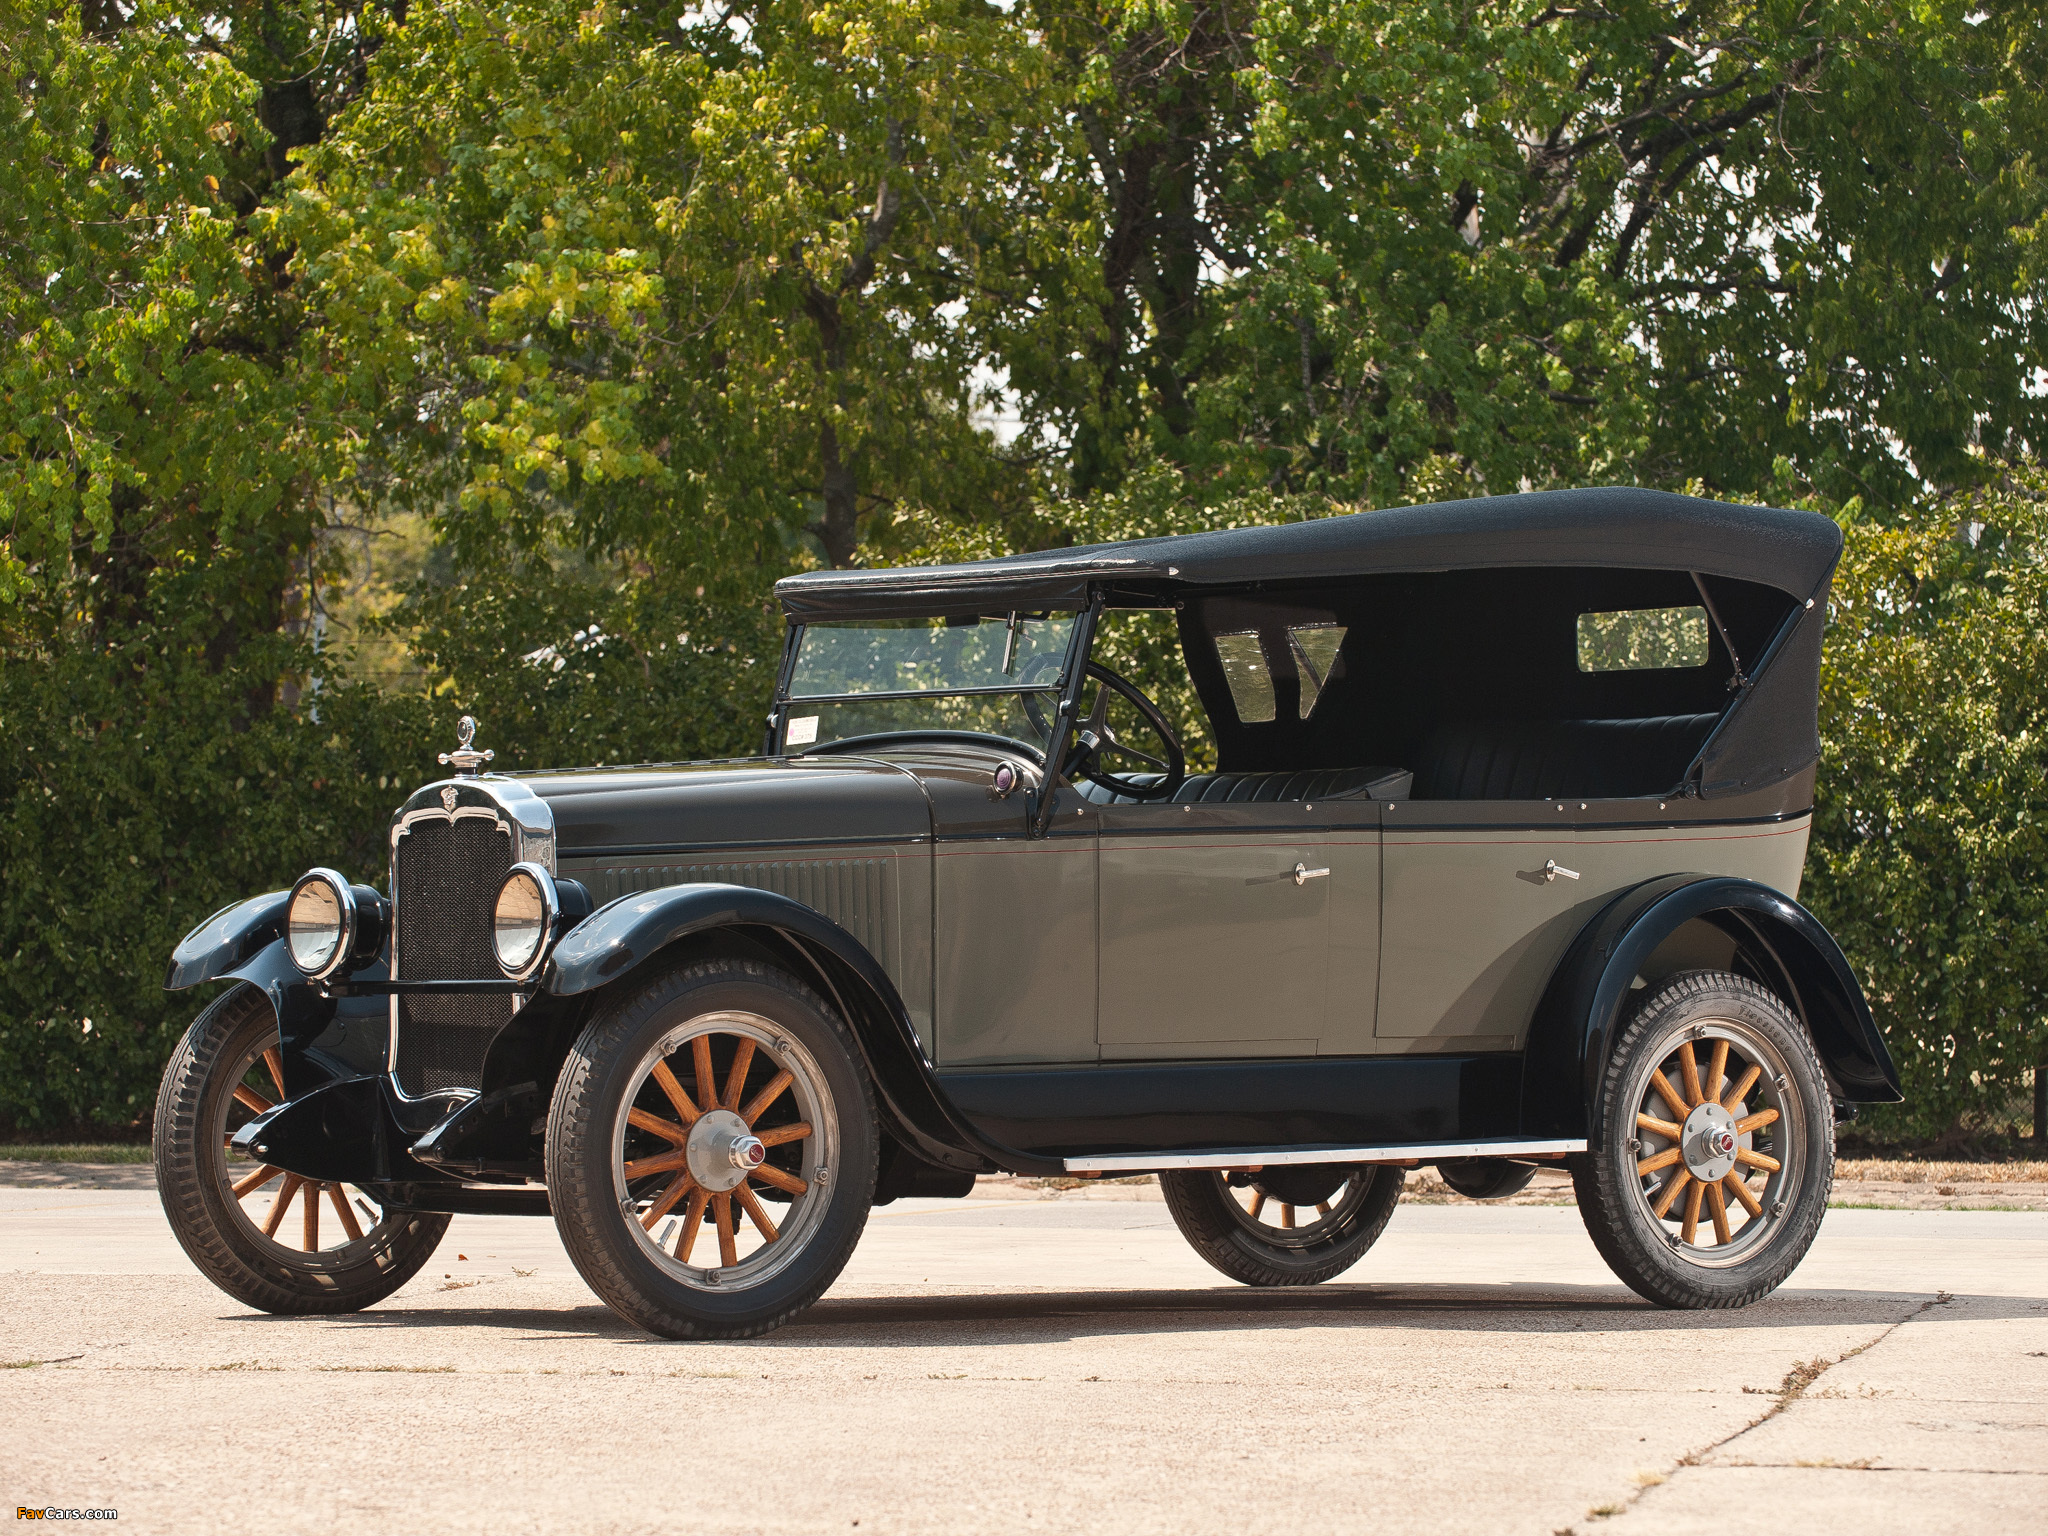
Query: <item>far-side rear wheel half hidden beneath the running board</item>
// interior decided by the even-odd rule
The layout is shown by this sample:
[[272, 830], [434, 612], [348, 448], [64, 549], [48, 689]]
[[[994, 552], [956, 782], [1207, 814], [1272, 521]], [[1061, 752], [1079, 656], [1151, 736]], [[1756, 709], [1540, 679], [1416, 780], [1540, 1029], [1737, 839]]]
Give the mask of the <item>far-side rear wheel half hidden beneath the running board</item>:
[[[1399, 1167], [1311, 1163], [1260, 1174], [1174, 1169], [1159, 1184], [1180, 1235], [1231, 1280], [1315, 1286], [1350, 1270], [1378, 1241], [1405, 1178]], [[1264, 1221], [1268, 1206], [1278, 1206], [1288, 1225]], [[1300, 1206], [1319, 1212], [1294, 1227]]]

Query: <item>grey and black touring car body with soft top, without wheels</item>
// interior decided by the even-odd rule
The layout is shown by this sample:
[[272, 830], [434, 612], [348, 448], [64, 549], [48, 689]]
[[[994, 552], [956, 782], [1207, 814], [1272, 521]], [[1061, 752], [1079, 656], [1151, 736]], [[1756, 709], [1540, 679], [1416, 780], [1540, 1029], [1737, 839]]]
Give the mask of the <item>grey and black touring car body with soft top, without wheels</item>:
[[[846, 1018], [887, 1139], [877, 1198], [997, 1169], [1597, 1149], [1630, 997], [1690, 969], [1782, 999], [1837, 1106], [1894, 1100], [1798, 905], [1839, 549], [1806, 512], [1595, 489], [788, 578], [760, 758], [489, 774], [469, 754], [393, 815], [346, 967], [289, 963], [274, 893], [197, 928], [168, 985], [272, 1001], [287, 1102], [244, 1145], [418, 1210], [545, 1210], [539, 1116], [590, 1010], [709, 952], [764, 956]], [[1075, 748], [1120, 608], [1174, 616], [1214, 739], [1167, 797]], [[1698, 629], [1686, 664], [1587, 670], [1585, 625], [1636, 612]], [[1020, 614], [1065, 637], [1036, 743], [793, 739], [864, 707], [858, 680], [805, 692], [807, 635]], [[522, 860], [571, 895], [545, 965], [508, 979], [492, 901]]]

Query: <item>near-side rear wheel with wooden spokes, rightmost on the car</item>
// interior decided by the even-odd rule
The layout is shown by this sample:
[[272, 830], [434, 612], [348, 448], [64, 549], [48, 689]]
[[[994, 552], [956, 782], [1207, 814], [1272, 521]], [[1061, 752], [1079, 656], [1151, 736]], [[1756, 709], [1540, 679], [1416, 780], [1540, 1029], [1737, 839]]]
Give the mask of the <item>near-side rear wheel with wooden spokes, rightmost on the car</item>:
[[1722, 971], [1647, 989], [1595, 1110], [1604, 1149], [1569, 1159], [1573, 1192], [1638, 1296], [1747, 1307], [1806, 1257], [1835, 1186], [1835, 1114], [1812, 1040], [1776, 995]]

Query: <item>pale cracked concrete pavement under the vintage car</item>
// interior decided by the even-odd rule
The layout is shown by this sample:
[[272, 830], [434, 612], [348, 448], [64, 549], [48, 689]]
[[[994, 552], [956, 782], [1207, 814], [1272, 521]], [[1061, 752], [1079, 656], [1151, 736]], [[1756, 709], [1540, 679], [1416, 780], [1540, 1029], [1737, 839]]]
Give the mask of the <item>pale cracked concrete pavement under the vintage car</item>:
[[457, 1219], [272, 1319], [147, 1190], [0, 1190], [0, 1497], [328, 1532], [2048, 1530], [2048, 1214], [1833, 1210], [1659, 1313], [1556, 1206], [1403, 1206], [1348, 1282], [1221, 1282], [1145, 1200], [899, 1202], [750, 1343], [649, 1339], [553, 1227]]

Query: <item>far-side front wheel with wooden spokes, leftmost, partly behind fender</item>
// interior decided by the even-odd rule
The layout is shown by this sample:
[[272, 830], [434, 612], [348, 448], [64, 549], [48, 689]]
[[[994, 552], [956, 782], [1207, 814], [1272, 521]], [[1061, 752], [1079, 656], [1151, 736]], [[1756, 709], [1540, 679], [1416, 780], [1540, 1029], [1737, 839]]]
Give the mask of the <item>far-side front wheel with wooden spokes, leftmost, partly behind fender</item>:
[[[283, 1096], [274, 1047], [270, 999], [250, 985], [221, 993], [193, 1020], [156, 1096], [158, 1198], [199, 1272], [236, 1300], [266, 1313], [362, 1311], [420, 1272], [449, 1219], [383, 1210], [360, 1186], [311, 1184], [279, 1169], [258, 1180], [256, 1163], [231, 1157], [225, 1135], [254, 1104]], [[299, 1221], [287, 1225], [295, 1200]], [[266, 1214], [272, 1233], [297, 1235], [299, 1247], [266, 1233]], [[324, 1225], [340, 1239], [332, 1247], [322, 1245]]]

